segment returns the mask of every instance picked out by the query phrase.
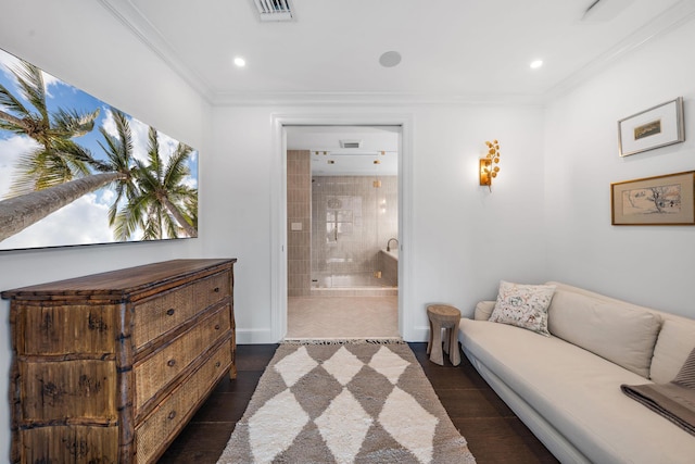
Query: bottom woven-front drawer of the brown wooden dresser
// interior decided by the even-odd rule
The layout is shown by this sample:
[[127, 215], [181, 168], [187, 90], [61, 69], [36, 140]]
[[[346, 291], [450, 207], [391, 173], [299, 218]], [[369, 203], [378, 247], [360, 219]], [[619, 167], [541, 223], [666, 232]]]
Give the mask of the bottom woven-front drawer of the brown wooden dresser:
[[219, 347], [212, 358], [191, 377], [185, 379], [162, 403], [136, 427], [137, 462], [156, 457], [166, 440], [190, 418], [188, 415], [222, 378], [231, 363], [231, 341]]

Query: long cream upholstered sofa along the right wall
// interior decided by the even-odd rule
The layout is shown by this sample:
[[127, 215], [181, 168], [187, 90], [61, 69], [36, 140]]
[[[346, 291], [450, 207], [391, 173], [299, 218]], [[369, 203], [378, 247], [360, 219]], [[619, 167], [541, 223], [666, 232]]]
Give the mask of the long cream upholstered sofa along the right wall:
[[695, 436], [620, 390], [672, 380], [695, 319], [547, 284], [549, 337], [489, 322], [494, 301], [462, 318], [463, 351], [483, 378], [563, 463], [695, 463]]

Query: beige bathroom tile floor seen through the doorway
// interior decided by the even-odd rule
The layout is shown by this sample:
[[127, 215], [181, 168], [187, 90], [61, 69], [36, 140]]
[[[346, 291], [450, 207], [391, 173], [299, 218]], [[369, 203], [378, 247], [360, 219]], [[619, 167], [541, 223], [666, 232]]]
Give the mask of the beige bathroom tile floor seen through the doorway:
[[289, 297], [287, 339], [393, 338], [399, 297]]

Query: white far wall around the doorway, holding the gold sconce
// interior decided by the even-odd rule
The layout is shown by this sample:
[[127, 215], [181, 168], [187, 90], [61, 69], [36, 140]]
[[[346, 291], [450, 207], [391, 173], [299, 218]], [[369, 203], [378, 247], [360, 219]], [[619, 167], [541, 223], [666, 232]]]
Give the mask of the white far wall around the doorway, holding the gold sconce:
[[[404, 337], [425, 340], [426, 305], [447, 302], [466, 314], [494, 298], [501, 278], [540, 281], [543, 238], [543, 110], [535, 106], [244, 106], [216, 108], [215, 170], [202, 183], [213, 189], [208, 213], [213, 254], [239, 259], [235, 308], [239, 342], [274, 342], [271, 242], [274, 184], [282, 163], [274, 147], [273, 116], [329, 120], [405, 114], [413, 120], [413, 237], [403, 243], [412, 273]], [[478, 185], [485, 140], [497, 138], [501, 174], [493, 191]], [[278, 190], [278, 189], [276, 189]], [[211, 210], [206, 210], [211, 211]]]

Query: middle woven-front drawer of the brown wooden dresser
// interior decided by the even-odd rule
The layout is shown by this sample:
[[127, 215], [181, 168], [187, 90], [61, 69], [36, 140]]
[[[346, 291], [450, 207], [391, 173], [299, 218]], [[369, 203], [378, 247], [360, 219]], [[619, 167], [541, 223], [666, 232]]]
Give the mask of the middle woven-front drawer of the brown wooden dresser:
[[190, 330], [137, 362], [134, 367], [136, 418], [148, 400], [166, 387], [230, 329], [230, 306], [219, 306]]

